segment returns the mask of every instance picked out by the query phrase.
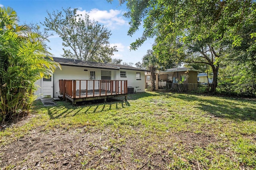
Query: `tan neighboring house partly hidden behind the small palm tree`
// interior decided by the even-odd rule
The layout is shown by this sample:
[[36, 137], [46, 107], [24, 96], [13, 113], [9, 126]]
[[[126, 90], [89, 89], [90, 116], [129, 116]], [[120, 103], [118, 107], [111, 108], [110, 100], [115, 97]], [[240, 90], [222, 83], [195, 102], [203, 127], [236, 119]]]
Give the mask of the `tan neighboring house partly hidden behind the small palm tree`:
[[[197, 74], [200, 72], [200, 70], [196, 70], [193, 67], [187, 68], [187, 67], [180, 67], [180, 68], [172, 68], [172, 69], [166, 69], [165, 71], [157, 71], [156, 72], [156, 90], [159, 88], [163, 88], [166, 86], [166, 82], [172, 82], [176, 83], [176, 79], [180, 79], [182, 74], [189, 75], [188, 80], [185, 81], [185, 84], [193, 84], [188, 85], [188, 90], [196, 89], [197, 85]], [[150, 85], [150, 72], [145, 73], [145, 82], [146, 87]]]

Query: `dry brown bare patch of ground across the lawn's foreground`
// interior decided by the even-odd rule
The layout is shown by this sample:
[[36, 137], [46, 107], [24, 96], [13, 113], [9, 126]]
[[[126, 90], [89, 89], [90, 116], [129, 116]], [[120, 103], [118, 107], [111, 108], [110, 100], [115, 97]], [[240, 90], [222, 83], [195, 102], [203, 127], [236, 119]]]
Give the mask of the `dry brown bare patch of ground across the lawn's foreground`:
[[[21, 124], [24, 121], [20, 122]], [[186, 150], [195, 146], [206, 146], [216, 140], [214, 136], [204, 136], [184, 132], [170, 134], [170, 139], [158, 142], [157, 152], [148, 155], [152, 143], [138, 140], [136, 136], [123, 138], [109, 129], [88, 132], [87, 127], [45, 132], [39, 127], [24, 138], [7, 146], [2, 146], [2, 169], [167, 169], [174, 161], [175, 146], [182, 144]], [[119, 142], [112, 142], [119, 141]], [[125, 142], [122, 142], [125, 141]], [[114, 143], [114, 144], [113, 144]], [[119, 144], [117, 144], [119, 143]], [[124, 143], [124, 144], [122, 144]], [[172, 152], [170, 153], [170, 150]], [[171, 155], [170, 155], [171, 154]], [[186, 159], [180, 157], [183, 161]], [[200, 169], [198, 162], [190, 162], [194, 169]]]

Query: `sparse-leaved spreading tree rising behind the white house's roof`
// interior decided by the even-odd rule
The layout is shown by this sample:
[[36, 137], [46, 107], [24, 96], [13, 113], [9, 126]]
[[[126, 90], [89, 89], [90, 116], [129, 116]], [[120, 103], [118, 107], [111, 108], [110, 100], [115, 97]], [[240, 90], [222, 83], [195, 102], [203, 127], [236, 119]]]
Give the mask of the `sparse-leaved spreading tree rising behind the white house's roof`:
[[110, 62], [111, 55], [117, 51], [111, 47], [108, 39], [110, 31], [90, 20], [87, 14], [77, 14], [77, 9], [48, 12], [44, 26], [46, 30], [56, 32], [62, 38], [63, 57], [84, 61]]

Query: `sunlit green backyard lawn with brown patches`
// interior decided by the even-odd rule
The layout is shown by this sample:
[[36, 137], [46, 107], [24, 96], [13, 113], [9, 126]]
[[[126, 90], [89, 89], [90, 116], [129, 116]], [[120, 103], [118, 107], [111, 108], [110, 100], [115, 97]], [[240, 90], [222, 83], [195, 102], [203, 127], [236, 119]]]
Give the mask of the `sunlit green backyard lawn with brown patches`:
[[256, 169], [255, 100], [160, 92], [122, 99], [36, 101], [25, 120], [0, 131], [0, 167]]

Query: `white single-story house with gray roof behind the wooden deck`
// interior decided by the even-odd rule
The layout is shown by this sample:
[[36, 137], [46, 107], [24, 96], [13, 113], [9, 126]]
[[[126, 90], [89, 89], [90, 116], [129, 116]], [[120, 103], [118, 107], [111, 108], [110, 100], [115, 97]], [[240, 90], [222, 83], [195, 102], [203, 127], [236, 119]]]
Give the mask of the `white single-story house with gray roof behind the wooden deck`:
[[[62, 85], [59, 84], [60, 80], [78, 80], [78, 82], [76, 82], [76, 87], [72, 87], [72, 85], [70, 87], [71, 89], [73, 88], [76, 91], [78, 91], [79, 89], [81, 90], [81, 88], [82, 90], [100, 89], [99, 87], [102, 87], [100, 83], [107, 82], [100, 80], [120, 80], [120, 82], [114, 81], [116, 85], [111, 84], [111, 81], [108, 81], [108, 84], [104, 84], [106, 85], [106, 87], [112, 86], [112, 88], [113, 86], [118, 86], [119, 93], [120, 90], [121, 93], [127, 93], [127, 91], [124, 89], [125, 86], [126, 88], [134, 87], [134, 91], [136, 92], [145, 91], [144, 83], [146, 70], [144, 69], [138, 69], [136, 67], [130, 67], [126, 65], [112, 65], [108, 63], [97, 63], [60, 57], [53, 57], [53, 59], [54, 61], [60, 63], [62, 70], [58, 68], [54, 71], [52, 77], [42, 78], [36, 82], [36, 84], [39, 85], [39, 88], [36, 91], [36, 95], [40, 95], [38, 99], [58, 97], [59, 95], [61, 95], [60, 88], [62, 87]], [[85, 83], [85, 80], [88, 80], [88, 85], [83, 86], [80, 83], [80, 87], [78, 88], [79, 80], [83, 80], [82, 83]], [[125, 84], [124, 86], [126, 80], [127, 84]], [[72, 91], [74, 91], [73, 89]]]

